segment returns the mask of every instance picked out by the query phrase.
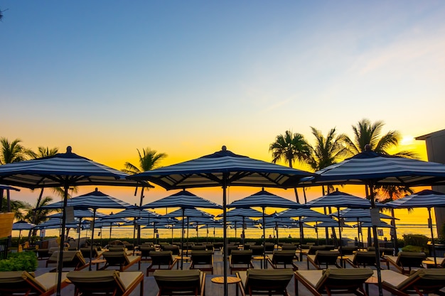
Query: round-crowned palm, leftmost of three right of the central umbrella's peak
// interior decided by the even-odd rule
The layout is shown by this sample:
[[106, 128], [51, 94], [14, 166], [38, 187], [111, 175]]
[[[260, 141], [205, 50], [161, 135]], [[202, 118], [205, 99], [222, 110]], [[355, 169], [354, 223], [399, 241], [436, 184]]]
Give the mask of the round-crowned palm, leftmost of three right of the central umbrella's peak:
[[[311, 146], [301, 133], [292, 133], [285, 131], [284, 135], [278, 135], [274, 143], [269, 145], [269, 151], [272, 151], [272, 163], [284, 160], [288, 163], [289, 168], [293, 168], [293, 163], [299, 161], [301, 163], [309, 159], [311, 154]], [[299, 202], [299, 195], [294, 188], [296, 202]]]

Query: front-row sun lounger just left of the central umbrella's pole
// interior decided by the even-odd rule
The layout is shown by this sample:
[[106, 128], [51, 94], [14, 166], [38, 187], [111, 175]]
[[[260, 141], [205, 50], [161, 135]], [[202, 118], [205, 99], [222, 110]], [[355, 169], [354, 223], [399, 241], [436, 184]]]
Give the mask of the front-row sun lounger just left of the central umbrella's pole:
[[154, 279], [161, 295], [204, 295], [205, 273], [200, 270], [155, 270]]

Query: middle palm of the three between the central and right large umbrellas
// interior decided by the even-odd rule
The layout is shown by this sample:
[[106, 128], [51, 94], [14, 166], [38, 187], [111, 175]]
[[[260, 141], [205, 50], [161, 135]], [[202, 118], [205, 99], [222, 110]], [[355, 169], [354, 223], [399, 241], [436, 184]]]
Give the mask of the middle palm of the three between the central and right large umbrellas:
[[[346, 137], [345, 134], [342, 133], [336, 136], [336, 128], [331, 128], [325, 138], [318, 129], [311, 126], [311, 130], [316, 143], [311, 147], [311, 155], [307, 163], [311, 165], [313, 170], [317, 171], [333, 165], [347, 155], [348, 151], [345, 146], [343, 146]], [[328, 186], [328, 193], [331, 192], [331, 190], [333, 190], [333, 186]], [[324, 194], [323, 187], [323, 195]]]

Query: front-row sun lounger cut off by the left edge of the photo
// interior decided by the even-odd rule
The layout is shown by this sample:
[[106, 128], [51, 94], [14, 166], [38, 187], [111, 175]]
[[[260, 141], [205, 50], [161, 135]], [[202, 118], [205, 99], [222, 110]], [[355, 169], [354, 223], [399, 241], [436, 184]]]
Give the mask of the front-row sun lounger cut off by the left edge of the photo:
[[[62, 273], [61, 288], [68, 285], [67, 273]], [[58, 273], [43, 273], [34, 277], [27, 271], [1, 271], [0, 295], [53, 295], [57, 289]]]

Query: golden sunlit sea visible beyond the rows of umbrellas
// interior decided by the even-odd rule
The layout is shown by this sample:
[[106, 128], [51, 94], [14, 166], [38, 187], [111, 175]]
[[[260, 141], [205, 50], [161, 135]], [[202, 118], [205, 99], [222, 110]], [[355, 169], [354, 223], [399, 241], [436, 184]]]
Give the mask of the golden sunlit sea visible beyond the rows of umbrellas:
[[[389, 214], [389, 212], [385, 213]], [[434, 211], [431, 213], [432, 215], [432, 223], [433, 223], [433, 235], [434, 238], [437, 238], [437, 231], [436, 231], [436, 224], [434, 219]], [[396, 231], [397, 231], [397, 238], [402, 239], [404, 234], [422, 234], [424, 236], [427, 236], [431, 238], [431, 229], [428, 227], [428, 212], [427, 209], [412, 209], [408, 211], [407, 209], [396, 209], [395, 210], [395, 217], [397, 218], [395, 224], [396, 224]], [[261, 219], [259, 219], [261, 220]], [[389, 219], [382, 219], [382, 221], [390, 223]], [[315, 226], [315, 223], [308, 223], [309, 226]], [[352, 226], [353, 222], [346, 222], [345, 227], [341, 230], [341, 236], [342, 238], [348, 238], [354, 240], [355, 238], [358, 238], [360, 241], [368, 241], [368, 229], [363, 228], [358, 229], [357, 227], [349, 227]], [[388, 241], [391, 239], [390, 234], [390, 228], [378, 228], [377, 233], [379, 235], [379, 239]], [[28, 231], [12, 231], [12, 236], [16, 237], [19, 234], [21, 236], [25, 237], [28, 236]], [[227, 229], [227, 237], [232, 238], [240, 238], [242, 234], [242, 229], [238, 227], [237, 229], [231, 228]], [[279, 228], [278, 231], [274, 228], [269, 228], [265, 230], [266, 237], [277, 237], [278, 238], [288, 238], [291, 236], [292, 238], [299, 238], [299, 228]], [[332, 230], [328, 229], [328, 236], [331, 236]], [[338, 236], [338, 228], [336, 228], [336, 234]], [[132, 239], [135, 235], [134, 228], [132, 226], [112, 226], [110, 229], [109, 227], [103, 227], [102, 229], [95, 229], [95, 239], [103, 239], [104, 241], [107, 241], [109, 239]], [[247, 239], [259, 239], [263, 235], [263, 230], [260, 228], [247, 228], [245, 229], [245, 237]], [[60, 236], [60, 229], [46, 229], [43, 231], [43, 234], [41, 234], [41, 237], [44, 238], [46, 236]], [[90, 237], [91, 236], [91, 230], [81, 230], [80, 233], [77, 231], [77, 229], [70, 229], [68, 232], [68, 236], [71, 236], [73, 238], [80, 237]], [[189, 229], [184, 230], [184, 236], [185, 237], [203, 237], [207, 238], [209, 241], [211, 241], [214, 238], [223, 237], [223, 229], [221, 228], [213, 228], [206, 226], [200, 226], [198, 229], [195, 227], [191, 227]], [[159, 239], [171, 239], [173, 238], [180, 238], [181, 237], [181, 229], [166, 229], [163, 227], [159, 227], [157, 229], [157, 233], [154, 231], [153, 228], [144, 229], [143, 226], [141, 227], [141, 238], [146, 239], [153, 239], [158, 237]], [[313, 238], [313, 239], [319, 239], [320, 241], [326, 238], [326, 230], [323, 228], [311, 228], [311, 227], [304, 227], [304, 237], [305, 238]]]

